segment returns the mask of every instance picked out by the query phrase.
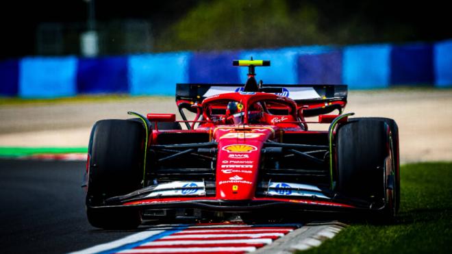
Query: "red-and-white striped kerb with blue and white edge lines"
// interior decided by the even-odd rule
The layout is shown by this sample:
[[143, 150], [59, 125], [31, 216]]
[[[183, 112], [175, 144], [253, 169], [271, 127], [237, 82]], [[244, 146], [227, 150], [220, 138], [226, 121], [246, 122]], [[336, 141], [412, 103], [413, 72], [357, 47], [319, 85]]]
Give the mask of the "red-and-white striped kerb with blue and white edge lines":
[[[297, 225], [156, 225], [148, 231], [135, 233], [123, 239], [92, 246], [88, 249], [74, 252], [72, 254], [99, 253], [102, 251], [120, 250], [118, 253], [198, 253], [198, 252], [250, 252], [255, 251], [260, 244], [271, 244], [275, 238], [282, 237], [298, 227]], [[169, 236], [163, 236], [152, 242], [143, 240], [151, 238], [168, 230], [181, 230]], [[197, 238], [196, 240], [192, 238]], [[228, 239], [238, 238], [238, 239]], [[136, 246], [141, 241], [140, 247], [136, 249], [121, 249], [122, 246], [132, 244]], [[186, 244], [184, 248], [181, 245]], [[217, 246], [204, 246], [217, 245]], [[238, 246], [234, 246], [237, 244]], [[245, 246], [243, 246], [246, 244]], [[255, 246], [253, 246], [253, 244]], [[177, 246], [175, 246], [177, 245]], [[192, 245], [190, 247], [190, 245]], [[224, 246], [222, 246], [224, 245]], [[248, 246], [247, 246], [248, 245]], [[171, 248], [171, 246], [175, 246]], [[260, 246], [259, 246], [260, 247]], [[119, 249], [118, 249], [119, 248]]]

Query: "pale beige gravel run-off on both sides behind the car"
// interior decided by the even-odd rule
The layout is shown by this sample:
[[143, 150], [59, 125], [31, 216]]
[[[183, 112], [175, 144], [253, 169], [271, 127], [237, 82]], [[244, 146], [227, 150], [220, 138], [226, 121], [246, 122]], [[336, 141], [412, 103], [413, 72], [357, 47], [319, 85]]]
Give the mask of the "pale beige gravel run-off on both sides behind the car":
[[[351, 90], [345, 112], [354, 112], [354, 117], [381, 116], [396, 120], [402, 163], [449, 161], [452, 160], [451, 98], [452, 89]], [[130, 118], [127, 111], [173, 112], [179, 117], [174, 97], [0, 105], [0, 147], [86, 147], [91, 127], [97, 120]], [[327, 127], [310, 128], [325, 130]]]

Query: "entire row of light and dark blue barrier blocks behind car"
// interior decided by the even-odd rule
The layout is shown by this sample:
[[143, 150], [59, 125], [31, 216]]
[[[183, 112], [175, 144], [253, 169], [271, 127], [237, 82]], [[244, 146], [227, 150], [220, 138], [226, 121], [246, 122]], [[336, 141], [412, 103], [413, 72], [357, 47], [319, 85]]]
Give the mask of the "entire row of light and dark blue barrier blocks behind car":
[[258, 68], [266, 84], [452, 87], [452, 40], [405, 45], [310, 46], [242, 51], [173, 52], [99, 58], [27, 57], [0, 61], [0, 95], [173, 95], [176, 83], [244, 83], [237, 59], [271, 60]]

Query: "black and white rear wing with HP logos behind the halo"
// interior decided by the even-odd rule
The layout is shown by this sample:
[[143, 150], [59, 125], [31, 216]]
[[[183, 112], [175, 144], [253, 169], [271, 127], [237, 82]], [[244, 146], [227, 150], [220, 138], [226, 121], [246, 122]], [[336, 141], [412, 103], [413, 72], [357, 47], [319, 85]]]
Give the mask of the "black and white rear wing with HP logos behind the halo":
[[[240, 92], [242, 84], [176, 84], [176, 102], [179, 110], [186, 108], [196, 112], [194, 103], [216, 94]], [[303, 108], [304, 116], [318, 116], [342, 110], [347, 104], [347, 85], [282, 85], [262, 84], [259, 92], [271, 92], [293, 99], [299, 108]]]

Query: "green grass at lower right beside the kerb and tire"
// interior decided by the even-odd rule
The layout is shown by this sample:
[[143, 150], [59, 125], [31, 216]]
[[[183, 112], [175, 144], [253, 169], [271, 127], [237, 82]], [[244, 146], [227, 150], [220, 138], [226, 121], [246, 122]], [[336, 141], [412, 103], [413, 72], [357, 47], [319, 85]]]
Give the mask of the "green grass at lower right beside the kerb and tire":
[[351, 223], [307, 253], [452, 253], [452, 163], [401, 168], [401, 209], [392, 225]]

